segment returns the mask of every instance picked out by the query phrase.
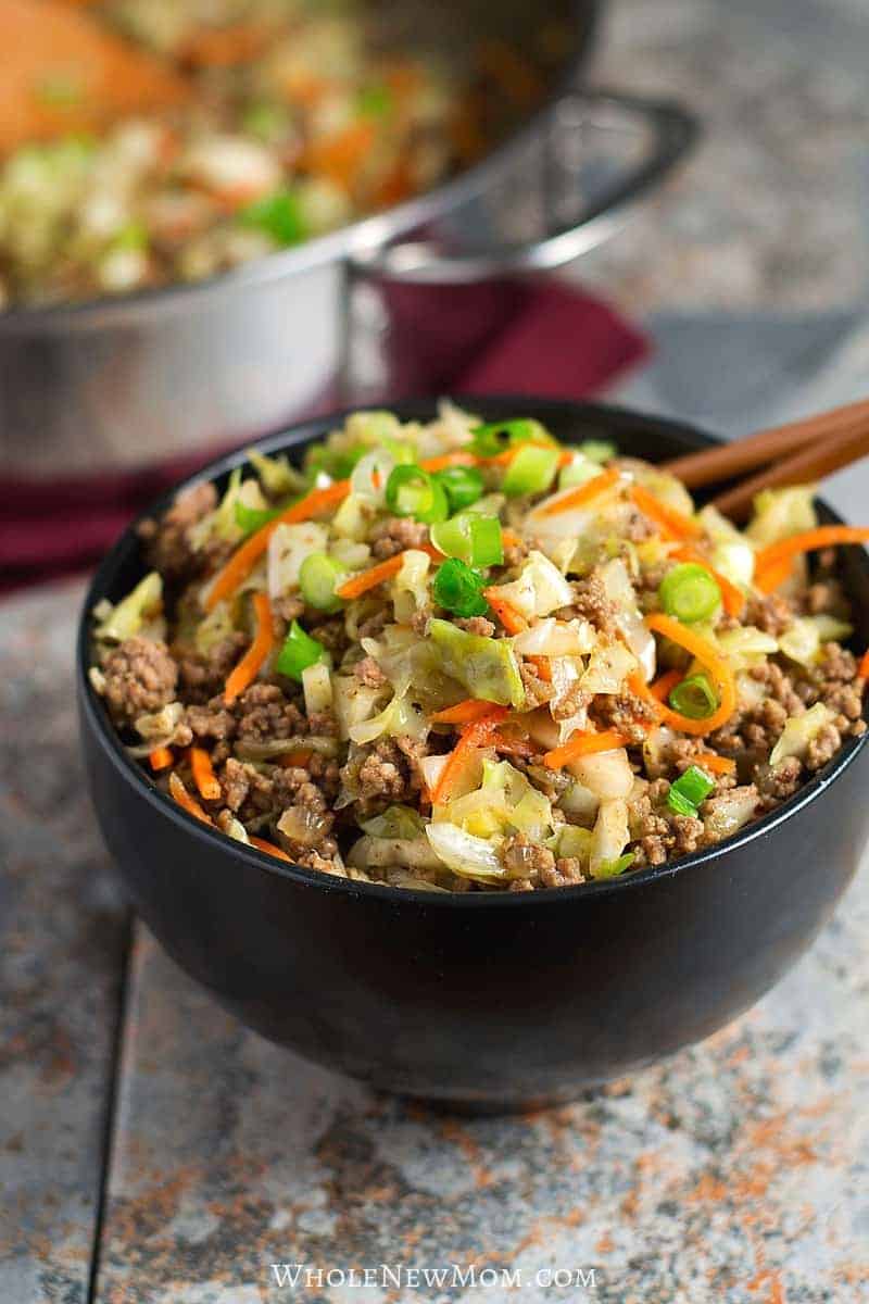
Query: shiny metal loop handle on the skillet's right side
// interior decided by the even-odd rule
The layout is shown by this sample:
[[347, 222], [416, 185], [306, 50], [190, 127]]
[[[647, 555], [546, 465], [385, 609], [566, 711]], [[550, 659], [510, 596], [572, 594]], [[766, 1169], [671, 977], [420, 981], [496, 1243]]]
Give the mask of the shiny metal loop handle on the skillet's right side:
[[[358, 253], [350, 271], [408, 283], [469, 283], [545, 271], [625, 222], [689, 151], [698, 121], [674, 100], [577, 90], [548, 113], [521, 164], [439, 224], [434, 237]], [[612, 146], [620, 151], [614, 162]], [[443, 228], [443, 230], [440, 230]]]

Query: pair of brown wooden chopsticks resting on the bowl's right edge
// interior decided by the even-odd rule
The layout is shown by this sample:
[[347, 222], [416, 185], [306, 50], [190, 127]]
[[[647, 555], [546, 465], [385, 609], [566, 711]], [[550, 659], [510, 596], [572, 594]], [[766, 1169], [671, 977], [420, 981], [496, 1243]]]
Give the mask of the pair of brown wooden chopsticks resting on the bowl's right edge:
[[762, 489], [809, 484], [865, 456], [869, 456], [869, 400], [692, 452], [666, 467], [689, 489], [754, 471], [756, 475], [713, 499], [726, 516], [743, 520]]

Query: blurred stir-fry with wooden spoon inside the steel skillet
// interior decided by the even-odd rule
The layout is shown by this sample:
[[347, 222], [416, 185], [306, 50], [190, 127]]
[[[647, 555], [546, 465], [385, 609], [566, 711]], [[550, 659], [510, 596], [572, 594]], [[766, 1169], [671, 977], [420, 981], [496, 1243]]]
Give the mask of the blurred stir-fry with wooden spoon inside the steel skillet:
[[483, 150], [479, 68], [358, 4], [8, 0], [0, 38], [0, 306], [201, 280]]

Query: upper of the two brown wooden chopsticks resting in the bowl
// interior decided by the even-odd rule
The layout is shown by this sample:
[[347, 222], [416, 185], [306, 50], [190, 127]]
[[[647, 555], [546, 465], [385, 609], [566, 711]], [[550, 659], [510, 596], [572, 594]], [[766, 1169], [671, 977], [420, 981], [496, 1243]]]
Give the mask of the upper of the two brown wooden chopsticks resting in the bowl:
[[859, 429], [869, 429], [869, 400], [849, 403], [846, 407], [793, 421], [790, 425], [760, 430], [757, 434], [735, 439], [720, 447], [689, 452], [684, 458], [664, 463], [664, 467], [689, 489], [700, 489], [704, 485], [734, 480], [747, 471], [754, 471], [757, 467], [788, 458], [817, 441], [826, 443], [829, 439], [856, 433]]

